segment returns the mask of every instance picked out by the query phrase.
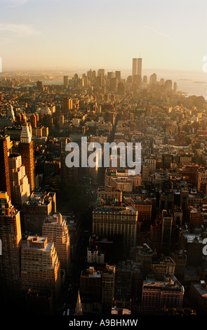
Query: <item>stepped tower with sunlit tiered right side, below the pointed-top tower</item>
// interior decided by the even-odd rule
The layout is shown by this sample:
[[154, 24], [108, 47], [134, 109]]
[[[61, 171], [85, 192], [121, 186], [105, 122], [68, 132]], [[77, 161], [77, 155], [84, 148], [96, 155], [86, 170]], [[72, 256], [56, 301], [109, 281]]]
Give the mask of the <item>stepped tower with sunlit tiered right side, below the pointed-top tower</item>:
[[30, 196], [29, 181], [22, 164], [20, 154], [9, 154], [8, 157], [9, 177], [11, 184], [11, 202], [14, 206], [22, 206]]

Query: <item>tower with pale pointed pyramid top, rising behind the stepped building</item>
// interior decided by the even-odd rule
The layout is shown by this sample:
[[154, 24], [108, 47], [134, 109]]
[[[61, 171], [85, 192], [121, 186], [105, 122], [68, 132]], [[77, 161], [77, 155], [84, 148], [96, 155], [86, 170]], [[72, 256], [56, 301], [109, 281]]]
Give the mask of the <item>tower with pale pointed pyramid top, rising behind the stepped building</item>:
[[32, 136], [27, 123], [22, 126], [19, 152], [22, 156], [22, 164], [25, 165], [25, 172], [29, 180], [30, 192], [33, 192], [35, 189], [34, 141], [32, 141]]

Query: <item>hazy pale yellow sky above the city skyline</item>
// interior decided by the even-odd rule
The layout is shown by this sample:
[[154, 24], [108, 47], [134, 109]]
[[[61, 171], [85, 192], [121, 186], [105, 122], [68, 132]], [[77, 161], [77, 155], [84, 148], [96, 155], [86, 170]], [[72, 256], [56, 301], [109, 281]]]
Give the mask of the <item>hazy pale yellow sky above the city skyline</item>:
[[202, 71], [206, 0], [0, 0], [4, 70]]

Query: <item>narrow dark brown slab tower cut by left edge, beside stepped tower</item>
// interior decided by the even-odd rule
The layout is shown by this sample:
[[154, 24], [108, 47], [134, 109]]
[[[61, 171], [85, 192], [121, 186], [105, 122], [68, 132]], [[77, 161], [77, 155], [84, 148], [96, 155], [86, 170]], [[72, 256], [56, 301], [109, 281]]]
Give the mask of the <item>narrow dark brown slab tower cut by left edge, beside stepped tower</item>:
[[8, 145], [5, 137], [0, 138], [0, 191], [7, 192], [11, 197], [11, 188], [8, 171]]

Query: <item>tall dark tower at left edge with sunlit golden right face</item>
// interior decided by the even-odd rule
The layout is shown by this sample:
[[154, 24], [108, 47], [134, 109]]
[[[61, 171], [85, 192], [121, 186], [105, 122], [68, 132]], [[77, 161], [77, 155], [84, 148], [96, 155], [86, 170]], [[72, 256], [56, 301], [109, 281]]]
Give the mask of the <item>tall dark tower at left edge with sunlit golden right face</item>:
[[[20, 291], [20, 244], [22, 233], [20, 211], [11, 204], [7, 192], [0, 192], [0, 291], [16, 293]], [[1, 297], [3, 298], [3, 297]]]

